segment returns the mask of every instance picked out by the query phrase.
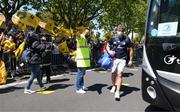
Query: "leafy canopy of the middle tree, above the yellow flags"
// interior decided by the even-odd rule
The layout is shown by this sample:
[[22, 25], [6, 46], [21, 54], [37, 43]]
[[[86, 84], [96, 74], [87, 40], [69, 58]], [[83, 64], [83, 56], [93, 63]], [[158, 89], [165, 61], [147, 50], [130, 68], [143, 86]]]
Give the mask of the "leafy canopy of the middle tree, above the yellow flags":
[[46, 14], [57, 23], [64, 24], [66, 28], [87, 26], [90, 21], [99, 17], [109, 0], [49, 0], [36, 6], [41, 10], [38, 13], [41, 18]]

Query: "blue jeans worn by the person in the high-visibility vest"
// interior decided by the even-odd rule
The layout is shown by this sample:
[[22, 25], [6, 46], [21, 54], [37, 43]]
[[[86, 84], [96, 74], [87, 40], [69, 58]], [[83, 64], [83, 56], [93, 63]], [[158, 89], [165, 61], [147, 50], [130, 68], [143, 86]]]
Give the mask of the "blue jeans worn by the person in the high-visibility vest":
[[84, 75], [86, 74], [85, 68], [78, 68], [76, 76], [76, 90], [82, 89], [84, 86]]

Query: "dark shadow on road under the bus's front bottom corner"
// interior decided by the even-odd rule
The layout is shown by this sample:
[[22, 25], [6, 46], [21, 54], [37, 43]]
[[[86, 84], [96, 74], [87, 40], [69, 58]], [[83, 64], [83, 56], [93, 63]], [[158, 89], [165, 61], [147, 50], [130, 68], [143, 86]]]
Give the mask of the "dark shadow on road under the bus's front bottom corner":
[[169, 110], [164, 110], [159, 107], [155, 107], [153, 105], [149, 105], [144, 112], [170, 112]]

